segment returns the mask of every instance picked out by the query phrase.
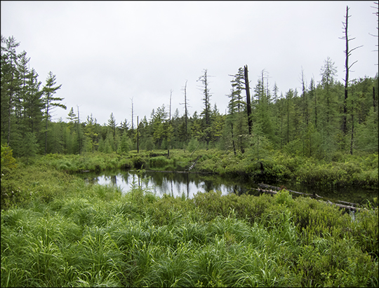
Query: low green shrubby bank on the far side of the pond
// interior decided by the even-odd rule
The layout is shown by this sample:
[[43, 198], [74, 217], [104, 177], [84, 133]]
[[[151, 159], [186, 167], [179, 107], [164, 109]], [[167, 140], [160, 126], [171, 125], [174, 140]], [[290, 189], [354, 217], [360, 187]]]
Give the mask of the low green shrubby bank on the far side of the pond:
[[[194, 165], [196, 163], [196, 165]], [[378, 188], [378, 154], [361, 156], [336, 154], [331, 161], [288, 156], [279, 151], [260, 159], [248, 153], [228, 153], [217, 149], [189, 151], [131, 151], [126, 154], [85, 153], [84, 155], [49, 154], [34, 160], [58, 170], [104, 171], [112, 169], [188, 170], [221, 175], [246, 175], [258, 181], [295, 180], [312, 186], [359, 185]]]

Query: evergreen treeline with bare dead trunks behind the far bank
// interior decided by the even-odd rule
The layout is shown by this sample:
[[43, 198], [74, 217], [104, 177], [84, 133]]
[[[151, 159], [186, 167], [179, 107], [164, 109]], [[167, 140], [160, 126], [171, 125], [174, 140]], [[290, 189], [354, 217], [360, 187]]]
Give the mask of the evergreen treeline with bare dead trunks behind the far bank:
[[[263, 70], [255, 86], [249, 87], [248, 67], [231, 75], [227, 114], [220, 114], [211, 101], [208, 71], [199, 77], [204, 109], [187, 113], [186, 85], [184, 111], [163, 104], [137, 125], [120, 123], [110, 114], [106, 124], [72, 107], [66, 119], [53, 122], [55, 108], [66, 107], [54, 97], [61, 85], [50, 72], [41, 86], [38, 74], [29, 69], [27, 53], [17, 53], [20, 43], [1, 36], [1, 144], [11, 146], [13, 156], [32, 157], [46, 153], [130, 150], [218, 148], [256, 158], [272, 150], [292, 155], [331, 159], [338, 153], [378, 153], [378, 74], [349, 81], [337, 80], [337, 69], [328, 57], [321, 67], [321, 81], [314, 78], [302, 89], [279, 94]], [[345, 120], [346, 119], [346, 120]], [[132, 121], [133, 123], [133, 121]]]

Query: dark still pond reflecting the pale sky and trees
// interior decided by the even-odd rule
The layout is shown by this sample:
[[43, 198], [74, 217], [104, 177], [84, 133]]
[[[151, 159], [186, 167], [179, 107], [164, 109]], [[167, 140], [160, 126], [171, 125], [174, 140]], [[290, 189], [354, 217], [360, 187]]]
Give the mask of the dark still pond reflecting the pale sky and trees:
[[[157, 196], [169, 194], [174, 197], [184, 196], [193, 198], [197, 192], [221, 191], [222, 195], [229, 193], [248, 193], [259, 195], [258, 182], [255, 183], [246, 177], [221, 177], [215, 174], [187, 173], [187, 172], [157, 172], [135, 170], [119, 170], [117, 172], [102, 172], [101, 174], [83, 173], [88, 183], [92, 184], [113, 184], [121, 188], [123, 193], [131, 191], [134, 187], [140, 186], [155, 193]], [[378, 189], [365, 189], [361, 187], [335, 187], [335, 188], [314, 188], [303, 184], [287, 181], [281, 183], [265, 183], [273, 186], [286, 186], [287, 189], [302, 193], [317, 193], [317, 195], [335, 200], [343, 200], [351, 203], [366, 203], [366, 200], [373, 202], [374, 197], [378, 197]], [[295, 195], [294, 195], [295, 196]]]

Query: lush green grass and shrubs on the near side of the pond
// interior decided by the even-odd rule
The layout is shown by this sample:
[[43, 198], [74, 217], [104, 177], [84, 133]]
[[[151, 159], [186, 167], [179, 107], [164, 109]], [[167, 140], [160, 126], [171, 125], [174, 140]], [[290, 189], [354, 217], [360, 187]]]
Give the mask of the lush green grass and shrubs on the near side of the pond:
[[1, 287], [378, 287], [378, 208], [123, 195], [36, 164], [2, 177]]

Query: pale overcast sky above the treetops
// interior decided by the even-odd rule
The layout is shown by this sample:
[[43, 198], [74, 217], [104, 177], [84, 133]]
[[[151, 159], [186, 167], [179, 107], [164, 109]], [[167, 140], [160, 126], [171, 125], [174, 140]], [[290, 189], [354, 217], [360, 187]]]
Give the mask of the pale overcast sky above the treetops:
[[55, 109], [54, 121], [79, 106], [81, 121], [93, 114], [107, 123], [134, 125], [139, 116], [165, 104], [184, 114], [187, 82], [189, 114], [203, 109], [199, 76], [208, 69], [211, 105], [225, 114], [232, 77], [248, 65], [251, 88], [261, 71], [283, 95], [301, 90], [301, 71], [321, 79], [327, 57], [338, 80], [345, 76], [343, 36], [346, 6], [349, 34], [355, 37], [350, 78], [378, 73], [378, 18], [374, 1], [1, 1], [1, 35], [14, 36], [30, 57], [42, 85], [48, 71], [62, 88], [67, 110]]

